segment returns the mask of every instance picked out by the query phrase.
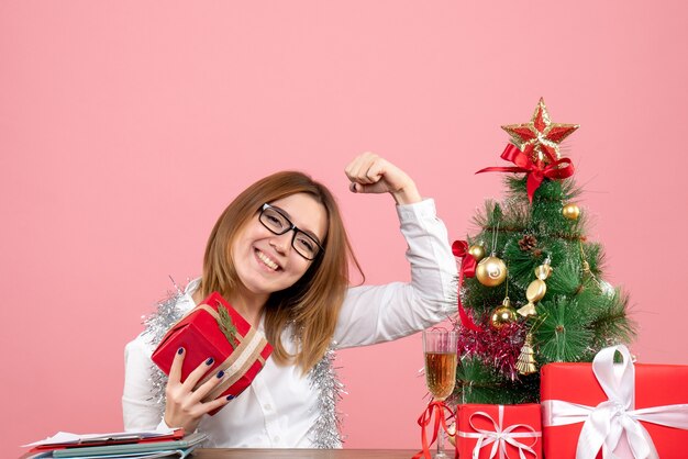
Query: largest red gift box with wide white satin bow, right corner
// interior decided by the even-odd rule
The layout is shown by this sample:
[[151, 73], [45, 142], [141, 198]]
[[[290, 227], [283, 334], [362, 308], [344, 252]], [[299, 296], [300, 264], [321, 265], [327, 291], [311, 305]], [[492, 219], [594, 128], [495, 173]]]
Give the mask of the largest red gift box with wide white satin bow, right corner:
[[592, 363], [543, 366], [541, 400], [546, 458], [686, 457], [688, 366], [633, 365], [613, 346]]

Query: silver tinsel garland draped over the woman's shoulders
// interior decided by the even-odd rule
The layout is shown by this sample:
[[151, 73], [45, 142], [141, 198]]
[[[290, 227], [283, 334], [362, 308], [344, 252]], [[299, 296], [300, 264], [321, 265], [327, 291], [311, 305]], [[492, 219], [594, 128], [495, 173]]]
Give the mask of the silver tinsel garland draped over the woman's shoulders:
[[[179, 321], [186, 312], [179, 306], [185, 291], [176, 283], [174, 286], [175, 290], [168, 292], [167, 298], [157, 303], [156, 311], [148, 316], [144, 316], [145, 331], [143, 334], [154, 348], [157, 347], [173, 324]], [[333, 449], [342, 447], [342, 413], [337, 411], [337, 403], [346, 392], [344, 391], [344, 384], [336, 374], [336, 368], [334, 367], [335, 356], [333, 344], [308, 376], [311, 388], [314, 388], [320, 393], [315, 404], [319, 415], [309, 433], [314, 448]], [[162, 418], [165, 414], [167, 376], [155, 363], [151, 363], [149, 380], [151, 398], [148, 400], [158, 406]]]

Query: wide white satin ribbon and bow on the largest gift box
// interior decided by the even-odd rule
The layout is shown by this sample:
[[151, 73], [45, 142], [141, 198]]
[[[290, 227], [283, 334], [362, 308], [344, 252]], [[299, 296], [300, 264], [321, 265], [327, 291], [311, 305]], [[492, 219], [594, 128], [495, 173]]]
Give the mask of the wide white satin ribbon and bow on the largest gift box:
[[[617, 351], [623, 357], [623, 362], [614, 365]], [[640, 422], [688, 429], [688, 404], [635, 410], [635, 367], [625, 346], [600, 350], [592, 361], [592, 371], [608, 398], [599, 405], [587, 406], [562, 400], [542, 402], [545, 427], [584, 423], [576, 459], [595, 459], [600, 449], [604, 459], [617, 458], [612, 451], [624, 432], [634, 458], [658, 459], [655, 445]]]

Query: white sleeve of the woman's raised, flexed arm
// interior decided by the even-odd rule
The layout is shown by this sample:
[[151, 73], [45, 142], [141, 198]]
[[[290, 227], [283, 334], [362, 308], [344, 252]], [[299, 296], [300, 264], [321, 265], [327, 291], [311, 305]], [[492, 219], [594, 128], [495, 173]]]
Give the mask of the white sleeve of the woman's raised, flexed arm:
[[411, 282], [349, 288], [334, 332], [337, 348], [397, 339], [456, 313], [456, 260], [431, 199], [398, 205]]

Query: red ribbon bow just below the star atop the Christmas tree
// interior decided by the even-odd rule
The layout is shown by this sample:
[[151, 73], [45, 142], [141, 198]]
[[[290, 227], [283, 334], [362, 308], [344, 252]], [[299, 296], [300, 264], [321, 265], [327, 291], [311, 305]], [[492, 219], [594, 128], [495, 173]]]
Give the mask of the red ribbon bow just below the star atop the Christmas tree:
[[540, 188], [540, 183], [545, 178], [561, 180], [574, 175], [574, 165], [570, 159], [562, 158], [555, 160], [555, 158], [551, 158], [552, 164], [545, 166], [543, 161], [533, 163], [531, 159], [533, 149], [533, 145], [526, 145], [525, 150], [521, 152], [515, 145], [509, 144], [501, 154], [501, 158], [513, 163], [515, 167], [486, 167], [476, 173], [525, 172], [528, 175], [528, 199], [530, 202], [533, 202], [533, 194], [535, 194], [535, 190]]

